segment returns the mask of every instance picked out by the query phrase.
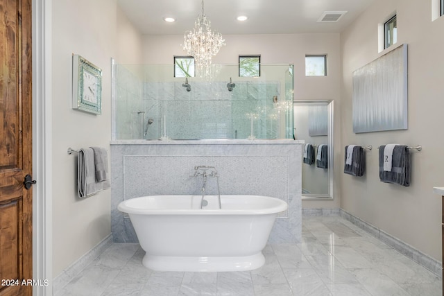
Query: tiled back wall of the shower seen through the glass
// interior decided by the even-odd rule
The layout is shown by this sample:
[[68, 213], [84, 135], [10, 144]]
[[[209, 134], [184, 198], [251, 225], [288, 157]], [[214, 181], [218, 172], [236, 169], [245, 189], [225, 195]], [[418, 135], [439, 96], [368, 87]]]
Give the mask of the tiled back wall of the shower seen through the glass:
[[278, 137], [273, 96], [280, 96], [279, 82], [237, 82], [232, 92], [223, 81], [190, 84], [187, 92], [182, 82], [144, 83], [145, 110], [155, 102], [159, 105], [149, 112], [157, 125], [157, 134], [149, 134], [149, 139], [163, 135], [164, 120], [171, 139], [246, 139], [251, 134], [250, 114], [255, 137]]

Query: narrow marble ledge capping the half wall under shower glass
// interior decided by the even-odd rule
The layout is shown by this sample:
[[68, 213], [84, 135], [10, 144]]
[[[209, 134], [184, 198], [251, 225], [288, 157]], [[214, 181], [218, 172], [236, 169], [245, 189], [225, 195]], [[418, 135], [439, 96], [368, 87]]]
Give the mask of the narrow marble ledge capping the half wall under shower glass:
[[205, 139], [205, 140], [113, 140], [111, 145], [250, 145], [250, 144], [303, 144], [293, 139]]

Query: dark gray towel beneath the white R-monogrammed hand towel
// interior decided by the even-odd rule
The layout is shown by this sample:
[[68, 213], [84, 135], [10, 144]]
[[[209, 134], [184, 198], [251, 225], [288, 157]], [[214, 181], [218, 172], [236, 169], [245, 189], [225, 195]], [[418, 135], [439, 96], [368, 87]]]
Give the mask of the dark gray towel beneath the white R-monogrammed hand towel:
[[410, 151], [407, 146], [395, 146], [389, 172], [384, 171], [384, 148], [384, 145], [379, 146], [379, 180], [385, 183], [410, 186]]

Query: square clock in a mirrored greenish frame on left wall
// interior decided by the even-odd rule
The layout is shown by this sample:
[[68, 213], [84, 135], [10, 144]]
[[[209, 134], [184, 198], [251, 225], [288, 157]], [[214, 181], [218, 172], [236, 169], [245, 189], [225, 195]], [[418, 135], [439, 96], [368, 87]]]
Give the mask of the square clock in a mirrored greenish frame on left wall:
[[102, 70], [80, 55], [72, 56], [72, 108], [102, 113]]

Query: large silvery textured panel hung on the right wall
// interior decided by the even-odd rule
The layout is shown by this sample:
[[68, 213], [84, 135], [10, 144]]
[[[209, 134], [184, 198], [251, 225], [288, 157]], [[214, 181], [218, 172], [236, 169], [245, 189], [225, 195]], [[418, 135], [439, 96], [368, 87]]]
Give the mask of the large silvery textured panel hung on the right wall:
[[353, 72], [353, 132], [407, 129], [407, 44]]

